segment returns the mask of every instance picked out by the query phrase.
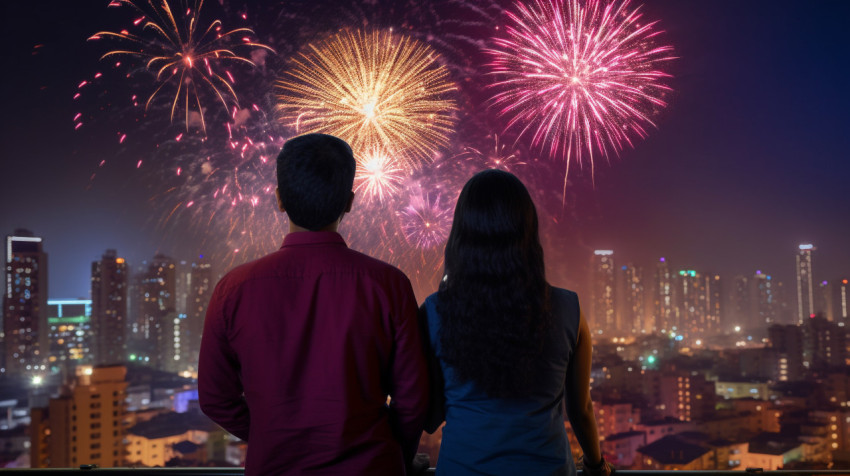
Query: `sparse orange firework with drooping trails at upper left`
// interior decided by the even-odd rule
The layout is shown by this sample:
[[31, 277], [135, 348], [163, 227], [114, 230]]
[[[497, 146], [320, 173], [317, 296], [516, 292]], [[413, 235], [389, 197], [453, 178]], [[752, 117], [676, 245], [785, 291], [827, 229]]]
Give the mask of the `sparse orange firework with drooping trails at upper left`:
[[127, 30], [120, 32], [101, 31], [91, 40], [112, 38], [123, 42], [126, 47], [104, 54], [101, 59], [114, 56], [136, 57], [144, 61], [145, 68], [156, 76], [159, 85], [148, 97], [145, 108], [149, 107], [157, 95], [170, 85], [175, 88], [171, 100], [171, 120], [178, 107], [185, 110], [186, 129], [195, 122], [193, 115], [203, 131], [206, 131], [204, 107], [201, 91], [208, 90], [218, 102], [228, 109], [229, 104], [237, 104], [233, 89], [233, 75], [226, 69], [227, 64], [244, 63], [254, 66], [250, 59], [234, 52], [236, 48], [270, 47], [250, 39], [254, 32], [248, 28], [222, 31], [220, 20], [214, 20], [202, 27], [199, 14], [203, 0], [197, 0], [194, 8], [185, 12], [179, 19], [174, 15], [167, 0], [112, 0], [110, 7], [128, 5], [142, 16], [134, 25], [142, 25], [143, 34], [133, 34]]

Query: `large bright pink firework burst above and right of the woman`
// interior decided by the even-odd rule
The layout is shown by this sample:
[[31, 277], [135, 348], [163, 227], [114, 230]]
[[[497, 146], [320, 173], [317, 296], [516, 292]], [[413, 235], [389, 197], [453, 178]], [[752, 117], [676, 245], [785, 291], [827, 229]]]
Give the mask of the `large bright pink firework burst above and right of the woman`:
[[[534, 0], [508, 13], [506, 37], [488, 49], [497, 78], [490, 100], [506, 129], [531, 136], [532, 147], [581, 164], [594, 153], [618, 154], [644, 138], [666, 106], [673, 59], [659, 46], [656, 22], [628, 0]], [[565, 182], [566, 183], [566, 182]]]

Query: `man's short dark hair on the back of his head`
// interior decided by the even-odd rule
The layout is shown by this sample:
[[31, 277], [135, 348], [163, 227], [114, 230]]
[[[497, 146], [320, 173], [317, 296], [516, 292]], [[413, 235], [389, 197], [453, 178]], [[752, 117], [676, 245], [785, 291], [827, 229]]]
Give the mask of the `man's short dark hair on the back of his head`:
[[342, 139], [306, 134], [283, 144], [277, 187], [289, 220], [311, 231], [340, 217], [354, 186], [354, 154]]

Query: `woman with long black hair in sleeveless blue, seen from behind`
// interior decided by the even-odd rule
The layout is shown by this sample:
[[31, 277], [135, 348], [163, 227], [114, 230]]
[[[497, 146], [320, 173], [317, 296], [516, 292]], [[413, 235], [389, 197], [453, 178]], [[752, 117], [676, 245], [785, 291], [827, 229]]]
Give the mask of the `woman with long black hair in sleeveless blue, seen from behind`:
[[608, 474], [590, 401], [590, 331], [572, 291], [549, 286], [537, 211], [514, 175], [463, 187], [445, 276], [420, 309], [445, 419], [437, 474], [575, 474], [562, 402], [585, 474]]

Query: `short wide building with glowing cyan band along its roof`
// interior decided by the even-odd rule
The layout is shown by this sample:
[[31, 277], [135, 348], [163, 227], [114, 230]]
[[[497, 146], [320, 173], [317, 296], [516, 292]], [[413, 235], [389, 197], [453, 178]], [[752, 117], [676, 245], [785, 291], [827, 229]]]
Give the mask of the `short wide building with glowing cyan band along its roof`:
[[48, 367], [89, 363], [92, 357], [91, 300], [48, 299], [50, 354]]

